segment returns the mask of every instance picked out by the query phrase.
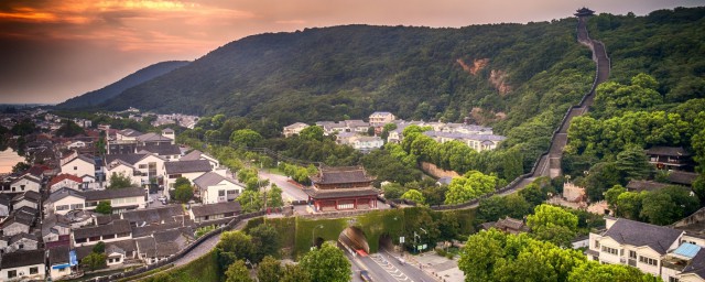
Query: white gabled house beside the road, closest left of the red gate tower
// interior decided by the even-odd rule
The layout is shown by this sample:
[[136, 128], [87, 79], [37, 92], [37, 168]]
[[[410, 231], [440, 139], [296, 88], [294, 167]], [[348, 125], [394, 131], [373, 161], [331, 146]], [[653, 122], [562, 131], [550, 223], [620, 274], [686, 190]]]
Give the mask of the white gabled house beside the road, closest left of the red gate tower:
[[232, 202], [245, 191], [245, 187], [234, 180], [215, 172], [208, 172], [195, 178], [194, 185], [204, 204]]

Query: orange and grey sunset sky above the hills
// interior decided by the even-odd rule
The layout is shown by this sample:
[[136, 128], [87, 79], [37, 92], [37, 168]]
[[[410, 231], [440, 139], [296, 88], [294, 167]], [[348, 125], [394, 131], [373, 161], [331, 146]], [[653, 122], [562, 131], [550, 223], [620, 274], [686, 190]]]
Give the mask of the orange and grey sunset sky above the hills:
[[705, 0], [0, 0], [0, 104], [56, 104], [163, 61], [264, 32], [341, 24], [459, 28], [638, 15]]

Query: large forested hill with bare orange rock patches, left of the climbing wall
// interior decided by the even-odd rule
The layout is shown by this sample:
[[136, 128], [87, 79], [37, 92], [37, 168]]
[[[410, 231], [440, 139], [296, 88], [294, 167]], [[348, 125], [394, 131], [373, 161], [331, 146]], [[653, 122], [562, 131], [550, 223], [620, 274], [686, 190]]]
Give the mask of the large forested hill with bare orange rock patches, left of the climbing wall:
[[[462, 29], [345, 25], [260, 34], [221, 46], [106, 105], [119, 110], [226, 113], [293, 121], [364, 118], [491, 121], [525, 99], [563, 108], [589, 87], [589, 50], [575, 43], [574, 18]], [[542, 73], [545, 72], [545, 73]], [[539, 77], [536, 77], [539, 75]], [[551, 94], [547, 76], [572, 84]], [[536, 83], [527, 87], [527, 82]], [[547, 79], [547, 80], [546, 80]], [[550, 96], [550, 97], [549, 97]], [[556, 107], [551, 107], [556, 106]], [[479, 109], [484, 109], [480, 111]], [[523, 117], [522, 117], [523, 119]]]

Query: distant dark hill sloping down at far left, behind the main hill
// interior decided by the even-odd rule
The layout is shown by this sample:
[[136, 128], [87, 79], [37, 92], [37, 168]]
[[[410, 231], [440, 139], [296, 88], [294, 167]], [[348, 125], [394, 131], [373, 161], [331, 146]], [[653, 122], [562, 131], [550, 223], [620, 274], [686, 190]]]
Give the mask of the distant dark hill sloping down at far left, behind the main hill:
[[161, 62], [137, 70], [135, 73], [126, 76], [124, 78], [108, 85], [98, 90], [86, 93], [82, 96], [77, 96], [70, 98], [56, 107], [59, 109], [77, 109], [90, 106], [97, 106], [106, 100], [118, 96], [126, 89], [150, 80], [154, 77], [164, 75], [171, 70], [174, 70], [178, 67], [185, 66], [191, 62], [186, 61], [170, 61], [170, 62]]

